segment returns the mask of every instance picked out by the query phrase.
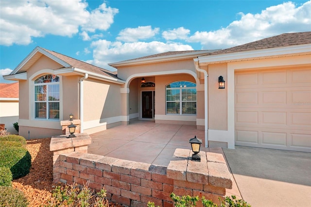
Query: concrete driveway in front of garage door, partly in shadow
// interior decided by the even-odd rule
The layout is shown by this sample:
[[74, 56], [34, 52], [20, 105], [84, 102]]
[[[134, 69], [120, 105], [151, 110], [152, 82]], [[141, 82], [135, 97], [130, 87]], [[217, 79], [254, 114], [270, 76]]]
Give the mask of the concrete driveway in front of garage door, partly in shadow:
[[311, 153], [241, 146], [223, 151], [252, 207], [311, 207]]

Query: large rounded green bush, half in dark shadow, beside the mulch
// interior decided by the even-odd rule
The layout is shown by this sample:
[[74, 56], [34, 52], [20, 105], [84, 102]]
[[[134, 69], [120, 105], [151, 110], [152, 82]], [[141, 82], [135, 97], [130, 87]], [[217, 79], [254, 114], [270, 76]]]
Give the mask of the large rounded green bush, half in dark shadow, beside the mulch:
[[9, 168], [13, 179], [20, 178], [29, 173], [31, 155], [21, 143], [16, 141], [0, 142], [0, 167]]

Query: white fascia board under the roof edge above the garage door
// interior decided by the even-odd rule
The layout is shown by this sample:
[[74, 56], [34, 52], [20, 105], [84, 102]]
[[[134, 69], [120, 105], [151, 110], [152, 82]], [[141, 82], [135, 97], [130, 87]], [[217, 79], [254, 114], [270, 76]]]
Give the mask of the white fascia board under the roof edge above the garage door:
[[279, 48], [268, 48], [262, 50], [253, 50], [245, 52], [230, 52], [225, 54], [215, 54], [199, 56], [200, 64], [211, 64], [211, 63], [225, 63], [236, 60], [247, 60], [247, 59], [260, 59], [273, 56], [288, 56], [298, 53], [311, 53], [311, 44], [286, 46]]

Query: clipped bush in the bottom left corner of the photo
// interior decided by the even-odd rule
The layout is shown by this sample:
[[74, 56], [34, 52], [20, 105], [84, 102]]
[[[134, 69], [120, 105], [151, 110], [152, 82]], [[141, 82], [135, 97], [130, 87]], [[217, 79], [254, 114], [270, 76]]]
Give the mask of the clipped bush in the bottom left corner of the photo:
[[27, 207], [24, 193], [13, 187], [0, 186], [0, 207]]

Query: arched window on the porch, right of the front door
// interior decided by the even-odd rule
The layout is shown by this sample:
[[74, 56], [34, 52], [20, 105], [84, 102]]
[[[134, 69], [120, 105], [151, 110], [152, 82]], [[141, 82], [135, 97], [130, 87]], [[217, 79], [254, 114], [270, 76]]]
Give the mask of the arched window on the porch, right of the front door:
[[166, 114], [196, 115], [196, 84], [178, 81], [166, 86]]

